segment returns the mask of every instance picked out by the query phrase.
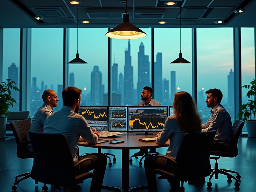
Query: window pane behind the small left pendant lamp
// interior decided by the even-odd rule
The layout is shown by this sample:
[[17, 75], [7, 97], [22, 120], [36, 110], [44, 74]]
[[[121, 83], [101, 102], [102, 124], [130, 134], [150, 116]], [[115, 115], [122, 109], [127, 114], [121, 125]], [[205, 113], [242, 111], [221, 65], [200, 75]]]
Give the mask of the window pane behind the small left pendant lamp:
[[[108, 105], [108, 28], [78, 29], [79, 58], [88, 64], [68, 64], [69, 86], [82, 89], [81, 105]], [[77, 53], [77, 28], [69, 28], [69, 61]]]

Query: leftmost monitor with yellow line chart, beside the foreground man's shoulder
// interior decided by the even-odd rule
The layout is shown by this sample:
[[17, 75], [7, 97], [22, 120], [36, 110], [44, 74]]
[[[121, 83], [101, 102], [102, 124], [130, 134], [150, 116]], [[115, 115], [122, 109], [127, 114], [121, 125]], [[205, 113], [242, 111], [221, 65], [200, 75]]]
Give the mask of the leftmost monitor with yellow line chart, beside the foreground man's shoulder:
[[80, 106], [78, 114], [84, 116], [92, 130], [108, 131], [108, 106]]

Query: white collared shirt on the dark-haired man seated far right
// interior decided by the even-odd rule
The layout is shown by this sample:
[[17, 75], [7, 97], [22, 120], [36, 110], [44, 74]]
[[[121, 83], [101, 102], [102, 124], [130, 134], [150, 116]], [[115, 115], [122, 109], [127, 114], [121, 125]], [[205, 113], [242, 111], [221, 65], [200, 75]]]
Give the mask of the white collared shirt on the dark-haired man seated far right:
[[[210, 119], [202, 124], [202, 132], [211, 130], [216, 130], [214, 139], [231, 141], [233, 137], [231, 117], [220, 103], [212, 108]], [[228, 146], [228, 143], [223, 144]]]

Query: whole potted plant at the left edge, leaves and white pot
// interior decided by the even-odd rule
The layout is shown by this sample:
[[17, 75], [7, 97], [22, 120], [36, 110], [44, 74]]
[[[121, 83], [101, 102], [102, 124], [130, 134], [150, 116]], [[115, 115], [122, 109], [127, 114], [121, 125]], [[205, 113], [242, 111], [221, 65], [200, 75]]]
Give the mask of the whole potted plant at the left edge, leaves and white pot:
[[11, 90], [19, 91], [16, 84], [11, 79], [6, 79], [7, 82], [2, 82], [0, 84], [0, 138], [5, 138], [6, 123], [8, 114], [8, 109], [10, 106], [16, 103], [16, 100], [11, 97]]

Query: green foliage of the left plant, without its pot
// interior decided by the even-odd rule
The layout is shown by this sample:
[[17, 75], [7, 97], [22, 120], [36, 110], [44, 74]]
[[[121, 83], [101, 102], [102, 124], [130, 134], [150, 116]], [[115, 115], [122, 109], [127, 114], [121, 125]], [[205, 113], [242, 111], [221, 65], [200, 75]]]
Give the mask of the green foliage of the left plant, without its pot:
[[11, 90], [19, 91], [19, 89], [14, 86], [16, 84], [14, 81], [11, 79], [6, 80], [7, 82], [2, 82], [0, 84], [0, 118], [9, 117], [9, 107], [13, 107], [13, 104], [17, 103], [11, 96]]

